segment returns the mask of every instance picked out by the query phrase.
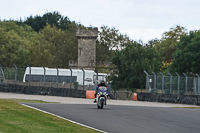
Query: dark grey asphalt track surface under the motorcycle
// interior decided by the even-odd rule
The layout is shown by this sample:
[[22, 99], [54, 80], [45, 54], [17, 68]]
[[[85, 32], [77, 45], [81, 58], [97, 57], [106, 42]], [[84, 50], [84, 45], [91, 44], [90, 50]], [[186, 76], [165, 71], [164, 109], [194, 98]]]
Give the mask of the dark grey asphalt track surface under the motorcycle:
[[108, 133], [199, 133], [200, 110], [96, 104], [26, 103]]

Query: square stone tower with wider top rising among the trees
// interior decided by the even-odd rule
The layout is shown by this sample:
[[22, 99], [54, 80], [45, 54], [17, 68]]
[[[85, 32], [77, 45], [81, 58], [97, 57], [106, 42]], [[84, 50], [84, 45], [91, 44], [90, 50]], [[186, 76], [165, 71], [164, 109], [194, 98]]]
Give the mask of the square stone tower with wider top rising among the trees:
[[96, 39], [98, 28], [81, 28], [76, 32], [78, 39], [78, 68], [93, 69], [96, 65]]

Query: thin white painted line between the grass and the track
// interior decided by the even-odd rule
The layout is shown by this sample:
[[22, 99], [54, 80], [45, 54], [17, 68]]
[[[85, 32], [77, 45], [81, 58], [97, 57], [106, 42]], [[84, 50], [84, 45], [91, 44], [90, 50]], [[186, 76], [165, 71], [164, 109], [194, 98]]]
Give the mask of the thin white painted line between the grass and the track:
[[81, 124], [81, 123], [78, 123], [78, 122], [72, 121], [72, 120], [70, 120], [70, 119], [66, 119], [66, 118], [61, 117], [61, 116], [59, 116], [59, 115], [56, 115], [56, 114], [53, 114], [53, 113], [50, 113], [50, 112], [47, 112], [47, 111], [44, 111], [44, 110], [41, 110], [41, 109], [38, 109], [38, 108], [32, 107], [32, 106], [29, 106], [29, 105], [26, 105], [26, 104], [23, 104], [23, 103], [21, 103], [21, 105], [26, 106], [26, 107], [29, 107], [29, 108], [32, 108], [32, 109], [35, 109], [35, 110], [38, 110], [38, 111], [41, 111], [41, 112], [44, 112], [44, 113], [47, 113], [47, 114], [50, 114], [50, 115], [53, 115], [53, 116], [56, 116], [56, 117], [58, 117], [58, 118], [61, 118], [61, 119], [67, 120], [67, 121], [69, 121], [69, 122], [72, 122], [72, 123], [75, 123], [75, 124], [81, 125], [81, 126], [83, 126], [83, 127], [87, 127], [87, 128], [90, 128], [90, 129], [93, 129], [93, 130], [99, 131], [99, 132], [107, 133], [107, 132], [105, 132], [105, 131], [102, 131], [102, 130], [99, 130], [99, 129], [96, 129], [96, 128], [93, 128], [93, 127], [90, 127], [90, 126], [87, 126], [87, 125], [84, 125], [84, 124]]

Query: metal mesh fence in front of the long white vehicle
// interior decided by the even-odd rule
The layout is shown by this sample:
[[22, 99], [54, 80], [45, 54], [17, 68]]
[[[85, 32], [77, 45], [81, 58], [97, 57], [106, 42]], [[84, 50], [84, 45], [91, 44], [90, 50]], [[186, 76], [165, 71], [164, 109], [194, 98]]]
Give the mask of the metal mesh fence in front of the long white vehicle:
[[[51, 75], [45, 73], [45, 68], [42, 70], [42, 74], [35, 74], [33, 69], [30, 69], [28, 73], [26, 71], [26, 68], [17, 68], [16, 66], [0, 67], [0, 84], [92, 90], [96, 82], [89, 83], [88, 79], [85, 79], [84, 70], [80, 70], [78, 75], [81, 83], [76, 83], [77, 75], [69, 74], [67, 71], [60, 71], [59, 73], [58, 68], [54, 70], [56, 74]], [[71, 72], [73, 72], [73, 69], [71, 69]]]

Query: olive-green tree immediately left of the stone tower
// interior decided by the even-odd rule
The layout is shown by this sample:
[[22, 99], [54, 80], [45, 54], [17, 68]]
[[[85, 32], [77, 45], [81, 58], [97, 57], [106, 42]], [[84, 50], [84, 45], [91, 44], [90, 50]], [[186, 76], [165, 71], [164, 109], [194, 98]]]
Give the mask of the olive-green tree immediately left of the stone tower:
[[30, 54], [32, 65], [67, 68], [69, 60], [77, 57], [78, 44], [74, 34], [48, 24], [35, 38]]

